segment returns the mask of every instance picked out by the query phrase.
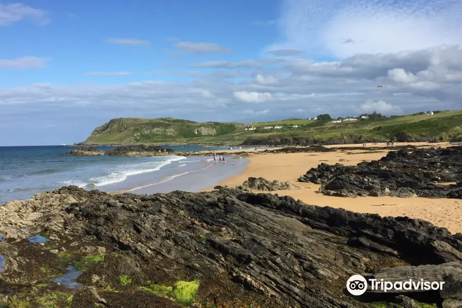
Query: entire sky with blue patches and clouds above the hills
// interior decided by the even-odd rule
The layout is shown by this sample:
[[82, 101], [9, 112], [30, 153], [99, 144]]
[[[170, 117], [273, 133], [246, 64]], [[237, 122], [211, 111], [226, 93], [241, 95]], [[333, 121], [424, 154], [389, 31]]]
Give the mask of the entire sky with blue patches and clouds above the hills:
[[0, 0], [0, 146], [113, 118], [462, 109], [460, 33], [459, 0]]

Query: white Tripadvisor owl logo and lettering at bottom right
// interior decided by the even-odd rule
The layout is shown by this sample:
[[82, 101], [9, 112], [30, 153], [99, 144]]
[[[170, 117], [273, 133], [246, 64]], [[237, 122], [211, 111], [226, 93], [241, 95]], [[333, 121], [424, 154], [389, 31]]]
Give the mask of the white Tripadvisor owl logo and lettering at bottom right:
[[[369, 280], [369, 283], [368, 283]], [[444, 281], [424, 281], [424, 279], [413, 280], [409, 279], [406, 281], [385, 281], [384, 279], [368, 279], [366, 280], [361, 275], [353, 275], [347, 280], [347, 290], [351, 295], [359, 296], [366, 292], [368, 285], [370, 285], [371, 291], [440, 291], [442, 290]]]

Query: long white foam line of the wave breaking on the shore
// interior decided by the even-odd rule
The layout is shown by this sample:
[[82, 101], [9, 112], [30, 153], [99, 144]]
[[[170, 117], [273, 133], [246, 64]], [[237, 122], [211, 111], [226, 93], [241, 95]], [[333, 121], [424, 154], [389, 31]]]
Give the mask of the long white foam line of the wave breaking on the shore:
[[123, 182], [129, 176], [140, 175], [146, 172], [158, 171], [165, 165], [170, 164], [171, 162], [179, 161], [186, 159], [184, 156], [168, 156], [166, 160], [163, 161], [153, 161], [145, 162], [132, 165], [124, 165], [119, 167], [119, 170], [111, 172], [111, 174], [98, 178], [91, 178], [91, 181], [94, 181], [91, 186], [104, 186], [108, 184], [114, 184]]

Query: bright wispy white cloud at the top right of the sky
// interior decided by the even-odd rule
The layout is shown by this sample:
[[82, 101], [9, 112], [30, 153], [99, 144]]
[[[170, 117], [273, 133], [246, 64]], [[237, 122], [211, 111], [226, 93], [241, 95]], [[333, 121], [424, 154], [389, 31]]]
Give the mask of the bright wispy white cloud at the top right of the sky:
[[282, 39], [266, 50], [299, 49], [343, 58], [462, 44], [459, 0], [284, 0], [282, 8]]

